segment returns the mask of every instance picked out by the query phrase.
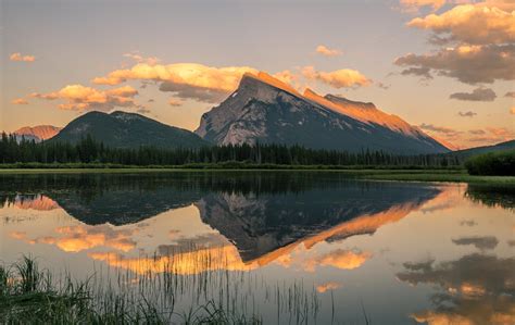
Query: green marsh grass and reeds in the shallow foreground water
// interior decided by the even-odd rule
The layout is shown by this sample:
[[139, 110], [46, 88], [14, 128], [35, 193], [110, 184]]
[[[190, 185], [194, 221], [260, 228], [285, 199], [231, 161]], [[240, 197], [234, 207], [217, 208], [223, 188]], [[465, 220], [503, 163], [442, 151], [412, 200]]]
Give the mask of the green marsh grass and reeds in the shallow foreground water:
[[[142, 272], [108, 266], [85, 280], [70, 273], [53, 278], [30, 257], [0, 265], [0, 324], [263, 324], [263, 303], [277, 310], [278, 323], [316, 322], [317, 292], [302, 282], [271, 285], [222, 267], [178, 275], [173, 263], [159, 271], [141, 263]], [[201, 270], [199, 263], [211, 257], [192, 266]], [[264, 302], [256, 301], [258, 287]]]

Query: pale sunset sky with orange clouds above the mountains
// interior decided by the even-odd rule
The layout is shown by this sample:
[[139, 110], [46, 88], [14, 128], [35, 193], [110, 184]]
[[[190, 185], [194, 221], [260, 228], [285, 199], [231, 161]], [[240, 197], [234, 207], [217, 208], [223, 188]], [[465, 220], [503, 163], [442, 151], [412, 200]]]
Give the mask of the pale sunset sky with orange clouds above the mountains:
[[0, 129], [123, 110], [194, 130], [246, 72], [456, 148], [515, 138], [515, 0], [0, 0]]

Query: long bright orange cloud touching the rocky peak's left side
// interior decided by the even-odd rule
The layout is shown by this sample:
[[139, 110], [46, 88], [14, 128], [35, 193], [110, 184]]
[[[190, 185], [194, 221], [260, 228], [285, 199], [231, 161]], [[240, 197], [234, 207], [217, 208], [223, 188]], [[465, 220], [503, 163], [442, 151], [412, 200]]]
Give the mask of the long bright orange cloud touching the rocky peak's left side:
[[180, 99], [217, 102], [233, 91], [249, 66], [213, 67], [198, 63], [148, 64], [116, 70], [92, 82], [98, 85], [120, 85], [127, 80], [161, 83], [160, 90], [175, 92]]

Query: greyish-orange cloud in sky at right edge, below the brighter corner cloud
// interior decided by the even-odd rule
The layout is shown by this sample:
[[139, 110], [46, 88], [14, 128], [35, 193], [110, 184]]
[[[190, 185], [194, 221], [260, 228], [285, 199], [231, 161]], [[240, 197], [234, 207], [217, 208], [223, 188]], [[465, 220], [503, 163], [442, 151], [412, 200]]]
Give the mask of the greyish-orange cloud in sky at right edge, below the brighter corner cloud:
[[429, 77], [437, 73], [470, 85], [515, 80], [515, 45], [460, 46], [422, 55], [409, 53], [394, 64], [407, 67], [401, 74], [418, 72]]

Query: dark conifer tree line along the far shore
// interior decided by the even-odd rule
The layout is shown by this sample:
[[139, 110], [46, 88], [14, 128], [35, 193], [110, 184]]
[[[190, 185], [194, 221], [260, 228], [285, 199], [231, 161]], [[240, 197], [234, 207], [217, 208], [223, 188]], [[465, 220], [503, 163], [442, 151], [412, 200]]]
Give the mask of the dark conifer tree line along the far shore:
[[227, 145], [200, 149], [162, 149], [139, 147], [136, 149], [110, 148], [91, 136], [71, 142], [35, 142], [14, 135], [2, 134], [0, 163], [99, 163], [121, 165], [186, 165], [240, 162], [248, 164], [277, 165], [385, 165], [447, 167], [462, 165], [459, 157], [449, 154], [400, 155], [384, 151], [362, 150], [347, 152], [309, 149], [301, 146], [274, 143]]

